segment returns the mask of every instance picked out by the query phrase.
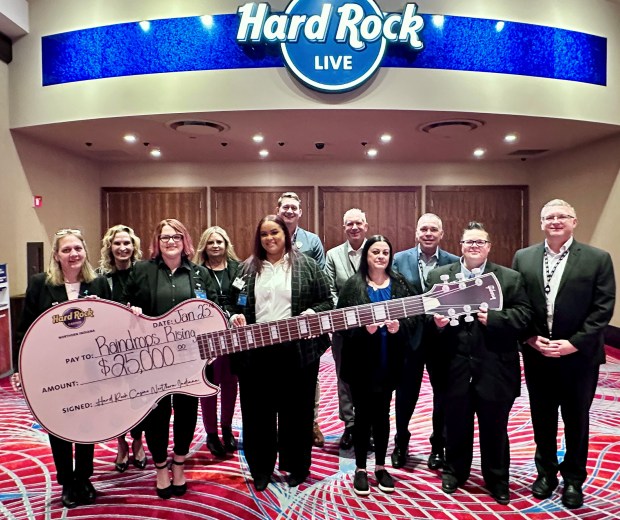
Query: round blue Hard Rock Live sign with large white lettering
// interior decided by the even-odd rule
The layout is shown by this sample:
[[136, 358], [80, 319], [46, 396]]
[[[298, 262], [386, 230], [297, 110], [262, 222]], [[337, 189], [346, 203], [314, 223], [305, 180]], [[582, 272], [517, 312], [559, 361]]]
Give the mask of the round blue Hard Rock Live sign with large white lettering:
[[248, 3], [237, 10], [237, 41], [279, 44], [286, 66], [308, 87], [345, 92], [376, 72], [388, 42], [423, 48], [417, 10], [414, 3], [384, 13], [373, 0], [293, 0], [272, 13], [268, 3]]

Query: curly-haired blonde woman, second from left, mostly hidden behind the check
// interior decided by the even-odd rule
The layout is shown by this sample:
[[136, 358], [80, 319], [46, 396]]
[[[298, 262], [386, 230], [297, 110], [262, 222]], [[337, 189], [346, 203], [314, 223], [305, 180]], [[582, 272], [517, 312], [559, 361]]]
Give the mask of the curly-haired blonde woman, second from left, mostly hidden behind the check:
[[[112, 300], [119, 303], [122, 301], [125, 286], [129, 279], [129, 273], [136, 261], [142, 258], [140, 249], [140, 239], [136, 236], [133, 229], [129, 226], [119, 224], [112, 226], [106, 231], [101, 241], [101, 258], [97, 272], [108, 280], [112, 291]], [[142, 445], [142, 432], [144, 426], [138, 424], [130, 430], [132, 442], [131, 451], [133, 453], [132, 463], [138, 469], [146, 467], [147, 458]], [[129, 467], [129, 445], [125, 435], [117, 439], [118, 451], [114, 466], [116, 471], [123, 473]]]

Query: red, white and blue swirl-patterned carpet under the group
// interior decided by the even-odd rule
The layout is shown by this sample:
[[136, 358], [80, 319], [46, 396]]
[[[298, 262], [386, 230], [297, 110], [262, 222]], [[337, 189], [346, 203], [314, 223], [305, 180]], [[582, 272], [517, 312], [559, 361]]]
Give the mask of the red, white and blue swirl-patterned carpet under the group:
[[[411, 421], [410, 460], [394, 470], [396, 492], [387, 495], [373, 486], [369, 497], [352, 490], [353, 454], [339, 453], [342, 423], [338, 420], [333, 360], [328, 352], [321, 363], [322, 405], [320, 422], [325, 448], [314, 449], [310, 479], [289, 489], [276, 473], [276, 481], [264, 493], [256, 493], [248, 480], [243, 451], [225, 460], [211, 456], [200, 424], [187, 462], [189, 491], [181, 498], [163, 501], [154, 490], [154, 470], [130, 466], [126, 473], [114, 471], [115, 443], [95, 450], [93, 483], [99, 491], [97, 503], [64, 509], [56, 484], [47, 436], [32, 417], [23, 399], [13, 392], [8, 379], [0, 381], [0, 518], [6, 519], [493, 519], [493, 518], [618, 518], [620, 517], [620, 359], [608, 351], [591, 414], [589, 478], [584, 491], [585, 506], [577, 511], [563, 508], [559, 488], [547, 500], [531, 497], [534, 477], [534, 443], [527, 395], [512, 409], [512, 501], [500, 506], [482, 489], [479, 458], [474, 459], [472, 477], [454, 495], [441, 491], [438, 474], [426, 467], [430, 434], [431, 395], [424, 381], [422, 395]], [[393, 418], [392, 418], [393, 419]], [[240, 435], [236, 410], [234, 429]], [[389, 453], [392, 446], [389, 448]], [[369, 464], [372, 475], [373, 463]]]

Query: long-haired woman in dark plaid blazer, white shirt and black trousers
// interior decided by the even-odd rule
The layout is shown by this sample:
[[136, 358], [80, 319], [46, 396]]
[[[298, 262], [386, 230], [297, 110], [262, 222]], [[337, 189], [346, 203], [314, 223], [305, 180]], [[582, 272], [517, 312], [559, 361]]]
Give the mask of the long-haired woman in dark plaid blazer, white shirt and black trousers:
[[[244, 266], [234, 326], [265, 323], [332, 308], [327, 275], [293, 248], [282, 217], [256, 227], [254, 251]], [[234, 354], [239, 376], [243, 448], [256, 491], [264, 491], [279, 454], [281, 471], [295, 487], [310, 474], [314, 396], [326, 335]]]

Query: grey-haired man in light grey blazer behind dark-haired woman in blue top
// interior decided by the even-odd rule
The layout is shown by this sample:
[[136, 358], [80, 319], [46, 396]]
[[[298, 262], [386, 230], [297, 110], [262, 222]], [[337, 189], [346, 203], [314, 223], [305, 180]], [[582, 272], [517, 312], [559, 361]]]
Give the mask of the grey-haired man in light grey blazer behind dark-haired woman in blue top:
[[[325, 267], [331, 279], [332, 298], [334, 307], [338, 303], [338, 294], [345, 282], [353, 276], [360, 265], [362, 248], [366, 242], [368, 223], [366, 214], [357, 208], [350, 209], [343, 217], [344, 234], [347, 240], [327, 252]], [[344, 422], [344, 433], [340, 438], [340, 447], [343, 450], [349, 449], [353, 445], [353, 423], [355, 414], [353, 411], [353, 401], [351, 391], [342, 379], [340, 379], [340, 361], [342, 359], [342, 336], [334, 334], [332, 336], [332, 354], [336, 365], [336, 376], [338, 378], [338, 416]]]

